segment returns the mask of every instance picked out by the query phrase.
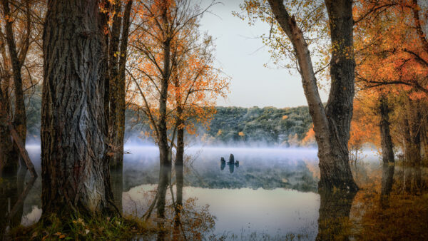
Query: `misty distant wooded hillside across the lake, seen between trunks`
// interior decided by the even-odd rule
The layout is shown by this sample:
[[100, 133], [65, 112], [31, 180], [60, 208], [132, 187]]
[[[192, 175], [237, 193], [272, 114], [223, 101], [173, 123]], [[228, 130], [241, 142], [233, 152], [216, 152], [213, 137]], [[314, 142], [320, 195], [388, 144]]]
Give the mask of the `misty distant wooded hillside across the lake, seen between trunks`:
[[[28, 143], [40, 141], [41, 86], [27, 98]], [[187, 135], [193, 145], [252, 144], [252, 145], [302, 145], [312, 119], [307, 106], [295, 108], [274, 107], [217, 107], [208, 127], [198, 126], [195, 135]], [[148, 135], [150, 128], [143, 113], [127, 109], [127, 143], [153, 143]], [[313, 143], [312, 143], [313, 144]]]

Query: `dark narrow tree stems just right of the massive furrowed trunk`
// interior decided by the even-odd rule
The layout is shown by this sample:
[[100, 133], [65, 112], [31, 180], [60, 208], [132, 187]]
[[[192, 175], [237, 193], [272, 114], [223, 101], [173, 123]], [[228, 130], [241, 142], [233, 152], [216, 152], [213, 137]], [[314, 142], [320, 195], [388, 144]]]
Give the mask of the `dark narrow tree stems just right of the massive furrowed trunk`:
[[106, 134], [108, 137], [109, 163], [112, 167], [123, 165], [126, 109], [126, 61], [128, 58], [128, 35], [131, 27], [133, 1], [102, 2], [101, 11], [105, 28], [107, 66], [104, 91]]

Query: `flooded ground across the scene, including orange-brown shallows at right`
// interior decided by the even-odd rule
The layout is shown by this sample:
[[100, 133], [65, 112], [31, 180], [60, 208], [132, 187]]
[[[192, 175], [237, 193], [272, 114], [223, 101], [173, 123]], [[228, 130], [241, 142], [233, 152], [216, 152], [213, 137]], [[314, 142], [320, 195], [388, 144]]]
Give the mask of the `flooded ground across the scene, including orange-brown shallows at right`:
[[[40, 173], [39, 147], [28, 150]], [[158, 149], [128, 146], [126, 150], [130, 154], [125, 155], [123, 169], [111, 171], [115, 202], [124, 215], [141, 217], [156, 193]], [[359, 239], [370, 227], [366, 222], [372, 222], [367, 213], [387, 207], [390, 193], [424, 197], [427, 187], [425, 168], [384, 167], [374, 155], [352, 164], [362, 188], [358, 193], [317, 193], [315, 149], [205, 147], [190, 148], [187, 153], [183, 200], [188, 200], [185, 207], [196, 215], [202, 213], [208, 220], [213, 217], [213, 228], [203, 229], [207, 239], [315, 240], [337, 235]], [[227, 162], [230, 154], [239, 165], [220, 162], [222, 157]], [[41, 179], [31, 187], [31, 178], [25, 174], [21, 171], [1, 180], [0, 205], [6, 208], [0, 215], [13, 214], [7, 225], [31, 225], [41, 216]], [[24, 191], [27, 195], [22, 195]], [[167, 207], [173, 202], [170, 191], [168, 188]], [[375, 214], [373, 218], [376, 223]]]

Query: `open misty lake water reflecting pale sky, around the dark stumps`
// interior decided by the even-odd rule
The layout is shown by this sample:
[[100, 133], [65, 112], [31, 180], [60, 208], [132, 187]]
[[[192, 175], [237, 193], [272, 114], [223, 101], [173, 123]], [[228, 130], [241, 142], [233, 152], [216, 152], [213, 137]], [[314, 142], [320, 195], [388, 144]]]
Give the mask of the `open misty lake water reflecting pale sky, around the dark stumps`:
[[[141, 217], [156, 192], [158, 149], [153, 146], [125, 149], [128, 154], [123, 169], [111, 172], [115, 202], [124, 214]], [[27, 150], [40, 173], [39, 146], [28, 146]], [[210, 230], [214, 237], [223, 235], [239, 240], [257, 235], [282, 239], [290, 234], [303, 234], [303, 239], [314, 240], [320, 235], [319, 230], [328, 228], [322, 227], [325, 225], [322, 220], [350, 216], [355, 194], [317, 193], [319, 169], [315, 149], [193, 147], [185, 151], [183, 199], [194, 200], [196, 209], [209, 205], [208, 211], [215, 216], [215, 227]], [[220, 158], [227, 161], [230, 154], [239, 165], [220, 163]], [[366, 156], [364, 163], [363, 167], [352, 167], [357, 183], [370, 181], [372, 174], [367, 170], [382, 176], [376, 156]], [[18, 174], [14, 190], [2, 188], [0, 204], [4, 211], [16, 209], [14, 202], [20, 199], [25, 183], [28, 186], [31, 179], [29, 174], [24, 175]], [[170, 202], [170, 193], [168, 197]], [[41, 178], [34, 182], [21, 206], [16, 222], [20, 218], [23, 225], [31, 225], [39, 220]]]

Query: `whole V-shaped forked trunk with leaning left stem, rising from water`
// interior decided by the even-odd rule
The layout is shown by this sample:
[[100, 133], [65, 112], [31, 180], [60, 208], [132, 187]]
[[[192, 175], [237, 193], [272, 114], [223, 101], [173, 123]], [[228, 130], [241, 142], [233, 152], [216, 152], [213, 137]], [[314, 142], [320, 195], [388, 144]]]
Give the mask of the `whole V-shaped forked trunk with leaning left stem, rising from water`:
[[310, 51], [297, 26], [281, 0], [269, 0], [275, 19], [287, 34], [295, 48], [300, 66], [303, 90], [314, 123], [315, 138], [320, 158], [320, 189], [340, 188], [357, 190], [349, 164], [347, 142], [349, 140], [354, 98], [355, 60], [352, 37], [352, 1], [326, 1], [330, 17], [332, 52], [330, 96], [326, 108], [318, 93], [317, 80], [312, 66]]

